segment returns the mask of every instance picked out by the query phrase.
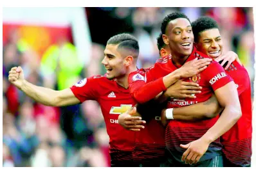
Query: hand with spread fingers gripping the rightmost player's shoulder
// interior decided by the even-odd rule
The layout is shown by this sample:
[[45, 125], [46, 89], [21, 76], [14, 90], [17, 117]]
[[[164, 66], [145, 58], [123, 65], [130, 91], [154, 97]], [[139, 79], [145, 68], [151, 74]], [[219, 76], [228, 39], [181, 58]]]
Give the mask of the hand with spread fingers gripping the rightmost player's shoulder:
[[230, 67], [231, 63], [235, 60], [237, 60], [242, 65], [237, 54], [233, 51], [228, 51], [226, 54], [223, 54], [222, 56], [219, 56], [218, 58], [215, 59], [215, 61], [217, 62], [222, 60], [223, 60], [223, 62], [221, 63], [222, 67], [228, 61], [228, 64], [226, 65], [225, 70], [227, 70], [228, 67]]

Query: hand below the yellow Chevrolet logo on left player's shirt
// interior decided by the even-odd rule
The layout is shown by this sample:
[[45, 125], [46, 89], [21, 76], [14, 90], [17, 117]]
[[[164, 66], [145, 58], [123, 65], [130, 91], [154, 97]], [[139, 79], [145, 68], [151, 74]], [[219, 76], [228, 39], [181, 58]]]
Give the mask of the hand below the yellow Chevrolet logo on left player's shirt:
[[136, 113], [136, 107], [126, 111], [125, 113], [122, 113], [118, 117], [118, 124], [122, 125], [123, 128], [131, 131], [140, 131], [140, 129], [144, 129], [145, 127], [142, 124], [145, 124], [146, 122], [142, 120], [142, 117], [133, 117], [136, 115]]

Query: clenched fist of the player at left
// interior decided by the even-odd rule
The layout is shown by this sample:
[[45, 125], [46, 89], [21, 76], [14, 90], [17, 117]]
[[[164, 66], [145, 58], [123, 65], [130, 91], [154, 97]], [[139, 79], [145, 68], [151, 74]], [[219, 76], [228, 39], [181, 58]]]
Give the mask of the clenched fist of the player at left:
[[24, 73], [21, 67], [13, 67], [9, 71], [8, 80], [13, 85], [17, 86], [17, 88], [21, 88], [24, 83]]

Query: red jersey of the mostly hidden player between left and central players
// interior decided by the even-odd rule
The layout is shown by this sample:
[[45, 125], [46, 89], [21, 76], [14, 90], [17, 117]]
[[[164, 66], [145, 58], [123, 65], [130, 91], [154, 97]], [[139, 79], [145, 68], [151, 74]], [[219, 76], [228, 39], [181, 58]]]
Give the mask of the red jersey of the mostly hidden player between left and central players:
[[[132, 96], [134, 96], [134, 93], [136, 93], [135, 91], [138, 88], [145, 85], [145, 72], [147, 72], [147, 69], [142, 68], [129, 74], [129, 89]], [[147, 94], [142, 91], [142, 101], [145, 102], [147, 95], [160, 93], [162, 90], [161, 88], [161, 86], [160, 88], [154, 88], [154, 91], [151, 91], [152, 93], [147, 92]], [[138, 93], [138, 95], [141, 94]], [[161, 159], [164, 159], [164, 136], [165, 127], [161, 124], [160, 117], [155, 117], [154, 119], [147, 122], [145, 129], [142, 129], [140, 132], [136, 133], [134, 159], [136, 159], [136, 161], [144, 162], [153, 162], [154, 160], [161, 161]]]

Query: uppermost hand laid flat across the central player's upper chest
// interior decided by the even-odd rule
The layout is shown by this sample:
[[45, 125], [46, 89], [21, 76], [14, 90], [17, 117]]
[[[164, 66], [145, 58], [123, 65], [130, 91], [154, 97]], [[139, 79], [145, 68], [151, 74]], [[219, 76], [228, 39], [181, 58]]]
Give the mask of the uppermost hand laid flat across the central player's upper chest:
[[187, 78], [196, 76], [196, 74], [202, 72], [203, 70], [205, 70], [205, 68], [207, 68], [207, 65], [210, 64], [210, 61], [212, 61], [212, 59], [210, 58], [204, 58], [201, 60], [197, 60], [196, 58], [192, 61], [188, 61], [181, 68], [178, 68], [180, 77]]

